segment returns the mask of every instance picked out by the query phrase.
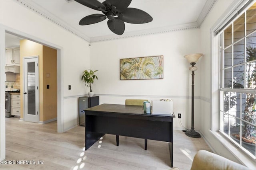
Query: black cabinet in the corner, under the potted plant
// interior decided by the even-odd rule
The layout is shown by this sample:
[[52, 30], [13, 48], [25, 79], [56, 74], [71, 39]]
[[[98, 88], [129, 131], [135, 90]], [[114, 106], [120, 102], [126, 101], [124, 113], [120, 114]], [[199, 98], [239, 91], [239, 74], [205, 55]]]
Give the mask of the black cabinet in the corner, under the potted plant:
[[93, 106], [99, 105], [99, 96], [86, 96], [79, 98], [79, 108], [78, 108], [78, 116], [79, 116], [79, 125], [85, 126], [85, 114], [84, 110]]

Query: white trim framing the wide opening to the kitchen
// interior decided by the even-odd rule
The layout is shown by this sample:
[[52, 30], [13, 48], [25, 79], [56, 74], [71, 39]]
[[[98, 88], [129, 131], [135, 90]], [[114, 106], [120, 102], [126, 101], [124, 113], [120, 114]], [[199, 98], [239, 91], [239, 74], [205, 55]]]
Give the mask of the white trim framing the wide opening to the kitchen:
[[64, 89], [63, 87], [63, 48], [45, 41], [44, 39], [40, 39], [38, 37], [34, 37], [33, 35], [29, 35], [17, 29], [13, 29], [6, 25], [0, 23], [0, 160], [4, 160], [6, 158], [5, 149], [6, 149], [6, 128], [5, 128], [5, 33], [11, 33], [13, 35], [22, 37], [24, 39], [28, 39], [34, 41], [36, 43], [40, 43], [42, 45], [46, 45], [53, 49], [57, 50], [57, 129], [58, 133], [64, 132], [64, 113], [62, 108], [64, 107]]

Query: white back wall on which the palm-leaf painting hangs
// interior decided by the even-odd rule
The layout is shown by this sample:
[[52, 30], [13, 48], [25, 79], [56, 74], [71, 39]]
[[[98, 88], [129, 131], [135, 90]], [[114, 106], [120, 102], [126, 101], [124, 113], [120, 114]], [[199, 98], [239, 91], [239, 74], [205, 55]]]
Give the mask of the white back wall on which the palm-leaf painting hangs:
[[[200, 53], [199, 29], [175, 31], [143, 37], [132, 37], [90, 46], [90, 66], [97, 72], [98, 80], [92, 90], [100, 95], [100, 103], [124, 104], [127, 98], [172, 98], [174, 112], [182, 113], [182, 124], [190, 127], [191, 72], [184, 55]], [[120, 59], [164, 56], [164, 79], [120, 80]], [[197, 64], [200, 72], [200, 64]], [[196, 72], [195, 128], [199, 129], [200, 76]], [[174, 128], [182, 129], [178, 118]]]

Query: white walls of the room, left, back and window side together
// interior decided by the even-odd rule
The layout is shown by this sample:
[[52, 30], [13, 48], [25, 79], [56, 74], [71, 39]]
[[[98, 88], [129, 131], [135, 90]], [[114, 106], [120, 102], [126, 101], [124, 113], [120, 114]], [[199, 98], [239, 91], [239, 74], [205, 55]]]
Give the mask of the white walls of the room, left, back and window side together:
[[[51, 43], [52, 47], [60, 49], [61, 59], [58, 66], [61, 71], [62, 86], [58, 91], [62, 98], [58, 105], [63, 108], [61, 121], [64, 131], [77, 124], [77, 98], [88, 92], [80, 80], [80, 75], [84, 69], [88, 68], [99, 70], [97, 72], [99, 80], [95, 81], [92, 90], [100, 95], [100, 103], [124, 104], [126, 98], [151, 100], [170, 97], [174, 101], [175, 113], [182, 113], [182, 124], [190, 127], [191, 72], [188, 71], [190, 65], [183, 56], [191, 53], [204, 53], [204, 57], [196, 64], [198, 71], [195, 75], [195, 128], [200, 129], [218, 154], [237, 161], [208, 131], [211, 123], [212, 76], [210, 28], [232, 1], [217, 1], [200, 29], [92, 43], [90, 48], [86, 41], [18, 3], [0, 0], [0, 23], [7, 29], [16, 30], [20, 35], [36, 38], [45, 45]], [[2, 37], [1, 44], [3, 44]], [[0, 49], [0, 61], [2, 62], [4, 61], [4, 48], [1, 46]], [[120, 80], [120, 59], [155, 55], [164, 56], [164, 79]], [[5, 158], [3, 65], [0, 63], [1, 160]], [[68, 85], [71, 85], [72, 90], [68, 90]], [[178, 118], [174, 119], [174, 128], [181, 129]]]

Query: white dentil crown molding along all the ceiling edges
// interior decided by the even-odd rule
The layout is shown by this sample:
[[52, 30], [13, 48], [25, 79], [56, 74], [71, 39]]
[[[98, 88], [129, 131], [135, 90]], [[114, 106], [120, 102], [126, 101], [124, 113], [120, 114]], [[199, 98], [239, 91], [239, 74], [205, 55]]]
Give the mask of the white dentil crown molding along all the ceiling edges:
[[160, 33], [182, 31], [182, 30], [187, 30], [187, 29], [198, 29], [198, 28], [200, 28], [200, 25], [202, 25], [202, 23], [204, 22], [205, 18], [208, 16], [210, 10], [212, 9], [212, 7], [216, 3], [216, 1], [217, 0], [207, 0], [197, 21], [193, 22], [193, 23], [126, 32], [123, 35], [115, 35], [114, 34], [114, 35], [106, 35], [106, 36], [90, 38], [87, 35], [85, 35], [84, 33], [81, 33], [80, 31], [78, 31], [77, 29], [72, 27], [71, 25], [68, 25], [68, 23], [66, 23], [65, 21], [62, 21], [57, 16], [46, 11], [44, 8], [38, 6], [33, 1], [31, 1], [31, 0], [16, 0], [16, 2], [18, 2], [18, 4], [24, 6], [28, 10], [35, 12], [36, 14], [42, 16], [43, 18], [51, 21], [52, 23], [62, 27], [66, 31], [69, 31], [73, 35], [76, 35], [77, 37], [80, 37], [81, 39], [83, 39], [84, 41], [87, 41], [89, 43], [95, 43], [95, 42], [101, 42], [101, 41], [111, 41], [111, 40], [124, 39], [124, 38], [130, 38], [130, 37], [140, 37], [140, 36], [145, 36], [145, 35], [155, 35], [155, 34], [160, 34]]

